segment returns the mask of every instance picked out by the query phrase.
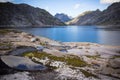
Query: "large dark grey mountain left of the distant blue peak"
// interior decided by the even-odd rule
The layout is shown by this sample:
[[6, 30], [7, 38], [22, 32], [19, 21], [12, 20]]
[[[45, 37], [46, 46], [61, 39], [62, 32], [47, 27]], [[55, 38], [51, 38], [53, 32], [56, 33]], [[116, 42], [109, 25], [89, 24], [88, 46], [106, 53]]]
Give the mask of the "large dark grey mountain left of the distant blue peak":
[[44, 9], [27, 4], [0, 3], [0, 25], [45, 26], [65, 25]]

